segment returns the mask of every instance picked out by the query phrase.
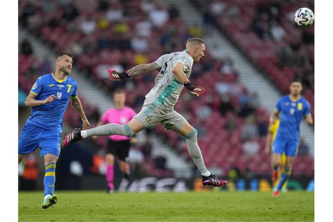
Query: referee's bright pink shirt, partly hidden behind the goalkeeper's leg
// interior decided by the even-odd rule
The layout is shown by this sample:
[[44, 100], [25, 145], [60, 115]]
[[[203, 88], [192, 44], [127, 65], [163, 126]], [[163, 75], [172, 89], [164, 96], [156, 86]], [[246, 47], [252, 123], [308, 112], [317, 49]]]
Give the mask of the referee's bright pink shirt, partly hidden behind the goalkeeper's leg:
[[[124, 106], [123, 109], [117, 110], [116, 108], [112, 108], [107, 110], [103, 115], [102, 115], [102, 122], [105, 124], [108, 123], [118, 123], [121, 125], [125, 125], [131, 119], [136, 115], [137, 113], [130, 107]], [[122, 141], [122, 140], [128, 140], [130, 139], [129, 137], [122, 136], [122, 135], [110, 135], [110, 139], [115, 140], [115, 141]]]

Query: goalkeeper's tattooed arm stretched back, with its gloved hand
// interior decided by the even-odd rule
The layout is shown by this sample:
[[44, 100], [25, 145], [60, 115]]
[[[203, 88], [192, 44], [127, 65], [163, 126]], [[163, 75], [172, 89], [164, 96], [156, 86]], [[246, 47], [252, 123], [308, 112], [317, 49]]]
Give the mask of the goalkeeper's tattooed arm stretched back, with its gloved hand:
[[156, 63], [150, 63], [150, 64], [141, 64], [138, 66], [133, 67], [132, 69], [126, 71], [126, 72], [122, 72], [119, 73], [116, 70], [113, 69], [109, 69], [109, 77], [110, 80], [124, 80], [130, 77], [134, 77], [134, 76], [140, 76], [144, 73], [148, 73], [154, 70], [158, 70], [161, 67]]

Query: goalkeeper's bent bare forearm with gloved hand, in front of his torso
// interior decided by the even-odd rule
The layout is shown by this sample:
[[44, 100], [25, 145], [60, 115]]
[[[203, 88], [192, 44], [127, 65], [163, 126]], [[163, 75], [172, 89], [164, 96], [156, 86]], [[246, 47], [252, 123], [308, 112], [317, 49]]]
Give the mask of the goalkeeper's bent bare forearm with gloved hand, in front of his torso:
[[196, 96], [201, 96], [202, 94], [205, 93], [205, 89], [202, 86], [193, 86], [192, 83], [187, 79], [184, 71], [184, 65], [180, 62], [177, 62], [174, 64], [172, 68], [172, 74], [176, 77], [176, 79], [186, 87], [190, 93], [196, 95]]

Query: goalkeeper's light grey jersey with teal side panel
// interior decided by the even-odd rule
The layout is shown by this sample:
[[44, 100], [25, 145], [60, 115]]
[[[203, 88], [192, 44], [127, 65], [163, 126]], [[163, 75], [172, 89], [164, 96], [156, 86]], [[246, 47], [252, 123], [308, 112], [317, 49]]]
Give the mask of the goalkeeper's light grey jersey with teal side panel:
[[161, 56], [156, 63], [161, 67], [161, 71], [155, 78], [154, 88], [146, 95], [146, 98], [153, 101], [167, 110], [172, 110], [183, 89], [183, 85], [176, 80], [171, 70], [176, 63], [182, 63], [183, 71], [187, 78], [191, 74], [193, 59], [187, 51], [174, 52]]

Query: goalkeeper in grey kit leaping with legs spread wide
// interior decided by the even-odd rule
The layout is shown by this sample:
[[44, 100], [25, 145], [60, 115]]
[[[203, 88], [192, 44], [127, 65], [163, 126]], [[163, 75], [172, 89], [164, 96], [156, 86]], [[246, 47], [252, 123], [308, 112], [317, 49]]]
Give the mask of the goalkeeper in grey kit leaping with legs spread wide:
[[142, 110], [129, 123], [125, 125], [110, 123], [89, 130], [76, 128], [65, 137], [64, 146], [93, 135], [117, 134], [131, 137], [150, 124], [161, 122], [165, 129], [171, 129], [185, 137], [188, 152], [202, 175], [203, 185], [217, 187], [225, 185], [227, 181], [218, 179], [207, 170], [197, 143], [196, 129], [173, 109], [183, 87], [196, 96], [205, 93], [202, 86], [193, 86], [188, 80], [193, 62], [198, 63], [204, 56], [204, 51], [204, 41], [191, 38], [187, 41], [184, 51], [163, 55], [151, 64], [138, 65], [123, 73], [108, 70], [111, 80], [123, 80], [154, 70], [158, 70], [159, 74], [155, 79], [154, 88], [146, 95]]

